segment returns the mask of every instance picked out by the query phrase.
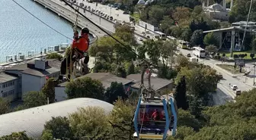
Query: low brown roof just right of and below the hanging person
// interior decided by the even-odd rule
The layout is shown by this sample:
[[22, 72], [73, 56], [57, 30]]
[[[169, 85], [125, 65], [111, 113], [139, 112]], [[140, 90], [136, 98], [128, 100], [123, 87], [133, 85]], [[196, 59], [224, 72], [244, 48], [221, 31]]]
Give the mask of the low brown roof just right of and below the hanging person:
[[[114, 76], [111, 73], [88, 73], [85, 76], [91, 77], [91, 79], [98, 79], [99, 81], [102, 82], [102, 84], [105, 88], [110, 87], [111, 82], [122, 82], [123, 85], [133, 82], [132, 79], [124, 79], [124, 78], [121, 78], [118, 76]], [[80, 76], [78, 78], [83, 78], [85, 76]], [[67, 83], [69, 83], [69, 82], [63, 82], [63, 83], [59, 84], [59, 86], [66, 86]]]

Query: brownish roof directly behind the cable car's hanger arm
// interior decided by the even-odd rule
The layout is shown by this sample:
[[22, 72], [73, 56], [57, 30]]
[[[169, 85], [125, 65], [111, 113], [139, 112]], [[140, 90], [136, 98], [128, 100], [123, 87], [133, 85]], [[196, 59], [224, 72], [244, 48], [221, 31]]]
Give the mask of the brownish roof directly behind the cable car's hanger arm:
[[[139, 89], [140, 88], [140, 76], [141, 76], [140, 74], [130, 74], [126, 78], [133, 79], [133, 82], [136, 82], [136, 83], [132, 87], [135, 89]], [[158, 78], [158, 77], [151, 77], [151, 85], [152, 85], [152, 88], [155, 90], [162, 89], [171, 83], [173, 83], [172, 80], [162, 79], [162, 78]], [[148, 82], [147, 78], [144, 79], [144, 85], [149, 86], [149, 82]]]

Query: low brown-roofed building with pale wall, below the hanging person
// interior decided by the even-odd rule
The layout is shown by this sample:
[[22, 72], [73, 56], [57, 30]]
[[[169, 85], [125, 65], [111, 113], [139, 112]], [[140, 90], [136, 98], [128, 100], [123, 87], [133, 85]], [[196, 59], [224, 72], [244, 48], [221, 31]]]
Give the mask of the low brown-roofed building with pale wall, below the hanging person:
[[[111, 82], [121, 82], [124, 86], [124, 89], [126, 90], [130, 86], [130, 84], [133, 82], [132, 79], [124, 79], [121, 77], [114, 76], [111, 73], [88, 73], [85, 76], [91, 77], [91, 79], [98, 79], [99, 81], [102, 82], [102, 85], [104, 86], [105, 89], [110, 87]], [[85, 76], [80, 76], [77, 79], [83, 78]], [[65, 89], [68, 83], [69, 82], [63, 82], [55, 87], [55, 96], [57, 101], [66, 100], [67, 95], [65, 93]]]

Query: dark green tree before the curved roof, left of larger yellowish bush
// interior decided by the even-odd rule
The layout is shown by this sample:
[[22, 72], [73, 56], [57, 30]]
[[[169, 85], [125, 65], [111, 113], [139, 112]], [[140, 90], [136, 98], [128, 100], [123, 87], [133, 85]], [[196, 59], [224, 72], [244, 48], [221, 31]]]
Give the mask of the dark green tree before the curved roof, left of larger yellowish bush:
[[59, 139], [74, 139], [69, 120], [67, 117], [52, 117], [44, 125], [42, 139], [47, 140], [52, 137]]

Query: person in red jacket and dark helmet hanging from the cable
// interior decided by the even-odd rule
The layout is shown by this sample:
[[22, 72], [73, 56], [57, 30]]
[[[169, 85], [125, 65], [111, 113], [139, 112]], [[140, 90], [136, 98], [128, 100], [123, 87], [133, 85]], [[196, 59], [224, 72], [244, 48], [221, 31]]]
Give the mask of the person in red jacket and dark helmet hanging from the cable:
[[[74, 39], [72, 42], [72, 48], [71, 48], [72, 54], [69, 54], [66, 58], [63, 59], [60, 66], [61, 76], [59, 76], [59, 79], [62, 79], [63, 75], [66, 74], [67, 67], [72, 65], [75, 61], [78, 61], [82, 58], [84, 58], [83, 62], [85, 67], [88, 67], [89, 56], [87, 52], [88, 52], [89, 42], [90, 42], [88, 34], [89, 34], [88, 28], [83, 28], [81, 30], [81, 36], [78, 35], [78, 31], [75, 31], [74, 37], [73, 37]], [[70, 58], [72, 59], [71, 61], [70, 61]], [[83, 67], [83, 70], [85, 70], [85, 67]]]

